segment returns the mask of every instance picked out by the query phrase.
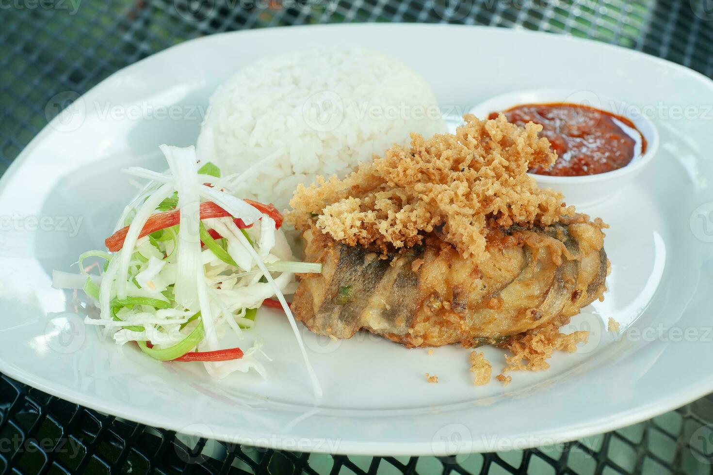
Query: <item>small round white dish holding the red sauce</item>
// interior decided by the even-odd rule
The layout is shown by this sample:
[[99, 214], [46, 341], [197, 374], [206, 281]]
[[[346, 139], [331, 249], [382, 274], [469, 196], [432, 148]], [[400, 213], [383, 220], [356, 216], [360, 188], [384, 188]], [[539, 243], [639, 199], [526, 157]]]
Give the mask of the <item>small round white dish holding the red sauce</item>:
[[565, 196], [567, 204], [585, 207], [597, 204], [612, 197], [618, 190], [626, 187], [649, 165], [659, 148], [659, 132], [654, 123], [642, 114], [630, 117], [625, 112], [627, 104], [621, 100], [607, 98], [588, 90], [568, 89], [533, 89], [519, 90], [490, 98], [475, 107], [469, 113], [479, 119], [487, 118], [494, 112], [503, 112], [523, 104], [570, 103], [587, 105], [620, 115], [629, 119], [644, 136], [647, 145], [643, 154], [634, 157], [625, 167], [600, 174], [582, 177], [550, 177], [549, 175], [533, 174], [538, 185], [543, 188], [553, 188]]

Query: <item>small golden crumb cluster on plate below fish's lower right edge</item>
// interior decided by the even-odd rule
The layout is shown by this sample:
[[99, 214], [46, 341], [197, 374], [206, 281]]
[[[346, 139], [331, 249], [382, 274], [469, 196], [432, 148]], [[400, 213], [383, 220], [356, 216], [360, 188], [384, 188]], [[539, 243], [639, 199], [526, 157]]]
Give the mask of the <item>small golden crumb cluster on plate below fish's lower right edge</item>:
[[577, 343], [587, 343], [588, 338], [589, 332], [585, 330], [569, 335], [560, 333], [557, 324], [516, 335], [503, 345], [503, 348], [513, 354], [505, 357], [506, 367], [503, 374], [515, 370], [546, 370], [550, 367], [547, 360], [555, 350], [575, 353]]

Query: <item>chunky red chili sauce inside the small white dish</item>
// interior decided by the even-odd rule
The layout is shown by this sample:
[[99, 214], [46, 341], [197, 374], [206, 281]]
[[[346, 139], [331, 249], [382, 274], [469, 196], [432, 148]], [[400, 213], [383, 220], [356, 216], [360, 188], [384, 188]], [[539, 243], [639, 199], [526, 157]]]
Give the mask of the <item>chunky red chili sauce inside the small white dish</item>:
[[[508, 122], [520, 125], [535, 122], [543, 126], [557, 152], [549, 169], [533, 167], [530, 172], [555, 177], [580, 177], [611, 172], [625, 167], [646, 151], [646, 140], [631, 120], [585, 105], [523, 104], [504, 112]], [[489, 118], [498, 117], [492, 113]]]

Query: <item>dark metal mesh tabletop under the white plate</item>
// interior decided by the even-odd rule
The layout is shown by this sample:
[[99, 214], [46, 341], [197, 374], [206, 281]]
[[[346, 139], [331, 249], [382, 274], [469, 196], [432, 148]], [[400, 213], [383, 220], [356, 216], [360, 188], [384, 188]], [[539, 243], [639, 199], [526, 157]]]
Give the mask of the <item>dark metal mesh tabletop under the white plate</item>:
[[[67, 105], [63, 100], [151, 53], [220, 31], [346, 21], [450, 21], [565, 33], [713, 76], [711, 0], [1, 0], [2, 167]], [[713, 399], [704, 398], [615, 432], [527, 451], [326, 456], [177, 436], [0, 375], [0, 473], [711, 474], [709, 422]]]

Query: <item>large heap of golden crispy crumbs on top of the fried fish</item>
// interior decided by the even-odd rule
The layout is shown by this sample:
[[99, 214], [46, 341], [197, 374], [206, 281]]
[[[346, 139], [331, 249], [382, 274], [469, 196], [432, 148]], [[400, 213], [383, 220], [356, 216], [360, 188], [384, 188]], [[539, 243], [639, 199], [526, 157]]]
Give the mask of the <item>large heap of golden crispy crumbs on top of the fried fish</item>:
[[573, 214], [561, 194], [539, 189], [526, 173], [557, 158], [538, 138], [540, 125], [520, 128], [503, 115], [465, 119], [456, 135], [411, 134], [411, 147], [394, 146], [345, 179], [299, 185], [289, 221], [301, 231], [316, 223], [337, 241], [384, 255], [435, 230], [464, 257], [482, 261], [491, 229], [548, 226]]

